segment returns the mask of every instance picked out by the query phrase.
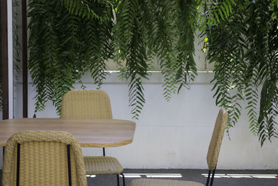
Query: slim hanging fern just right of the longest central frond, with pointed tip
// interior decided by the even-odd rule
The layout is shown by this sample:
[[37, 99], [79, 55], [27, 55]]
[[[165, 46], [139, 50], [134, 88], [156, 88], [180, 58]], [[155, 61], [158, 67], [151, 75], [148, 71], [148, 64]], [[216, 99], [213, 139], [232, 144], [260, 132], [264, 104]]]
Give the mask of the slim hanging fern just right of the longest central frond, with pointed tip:
[[[169, 101], [171, 94], [177, 90], [175, 75], [178, 67], [177, 42], [179, 38], [179, 4], [177, 1], [158, 1], [156, 7], [156, 32], [154, 33], [154, 54], [161, 67], [163, 95]], [[174, 19], [173, 19], [174, 18]], [[181, 59], [182, 60], [182, 59]]]

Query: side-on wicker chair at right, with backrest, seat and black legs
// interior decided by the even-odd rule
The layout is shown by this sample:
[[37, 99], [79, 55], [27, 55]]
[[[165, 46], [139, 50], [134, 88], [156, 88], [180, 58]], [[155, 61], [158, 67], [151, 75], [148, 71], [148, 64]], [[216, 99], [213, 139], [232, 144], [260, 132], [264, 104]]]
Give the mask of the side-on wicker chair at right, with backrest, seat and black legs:
[[[215, 174], [216, 164], [218, 162], [218, 155], [224, 130], [227, 125], [227, 111], [220, 109], [218, 117], [215, 122], [211, 143], [208, 146], [208, 153], [206, 155], [206, 162], [208, 164], [208, 178], [206, 186], [213, 185], [213, 178]], [[212, 176], [211, 176], [212, 171]], [[136, 179], [132, 180], [130, 186], [204, 186], [202, 183], [184, 180], [159, 180], [159, 179]]]

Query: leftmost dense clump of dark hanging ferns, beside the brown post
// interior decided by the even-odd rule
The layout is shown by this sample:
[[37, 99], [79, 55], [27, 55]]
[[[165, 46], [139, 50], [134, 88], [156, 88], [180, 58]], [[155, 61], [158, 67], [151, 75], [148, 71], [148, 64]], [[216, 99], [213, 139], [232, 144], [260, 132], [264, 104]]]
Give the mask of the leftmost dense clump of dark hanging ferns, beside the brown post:
[[42, 111], [45, 102], [51, 100], [60, 114], [63, 95], [74, 88], [83, 72], [90, 71], [95, 83], [101, 84], [106, 75], [104, 61], [111, 58], [111, 8], [106, 3], [88, 1], [88, 8], [111, 17], [100, 22], [94, 17], [80, 17], [63, 5], [48, 0], [28, 3], [28, 68], [37, 91], [35, 112]]

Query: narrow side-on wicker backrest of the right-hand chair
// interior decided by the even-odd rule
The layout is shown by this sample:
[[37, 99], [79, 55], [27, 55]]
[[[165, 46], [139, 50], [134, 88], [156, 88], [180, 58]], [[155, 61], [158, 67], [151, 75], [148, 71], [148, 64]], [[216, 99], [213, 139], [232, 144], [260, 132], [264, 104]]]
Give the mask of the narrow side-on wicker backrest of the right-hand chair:
[[208, 154], [206, 155], [208, 169], [211, 171], [215, 169], [218, 162], [220, 146], [222, 144], [224, 131], [227, 125], [227, 117], [227, 111], [224, 108], [221, 108], [215, 121], [213, 136], [211, 137], [211, 143], [208, 146]]

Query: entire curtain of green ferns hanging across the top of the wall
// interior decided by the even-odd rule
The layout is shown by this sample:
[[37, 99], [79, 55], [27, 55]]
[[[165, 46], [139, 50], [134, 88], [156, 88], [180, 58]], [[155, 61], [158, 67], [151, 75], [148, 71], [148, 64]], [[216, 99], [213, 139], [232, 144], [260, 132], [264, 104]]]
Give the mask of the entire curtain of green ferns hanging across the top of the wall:
[[[145, 104], [142, 79], [158, 60], [163, 95], [188, 87], [199, 29], [215, 64], [216, 104], [229, 111], [227, 130], [247, 110], [250, 130], [277, 137], [277, 0], [29, 0], [29, 70], [37, 87], [35, 110], [63, 95], [90, 71], [99, 88], [117, 63], [129, 81], [129, 106], [138, 119]], [[261, 94], [259, 86], [262, 84]], [[247, 107], [243, 107], [244, 102]], [[257, 109], [259, 107], [259, 110]]]

